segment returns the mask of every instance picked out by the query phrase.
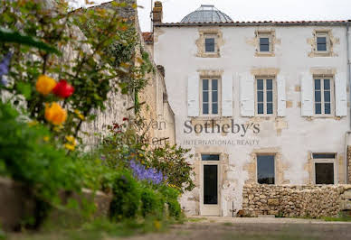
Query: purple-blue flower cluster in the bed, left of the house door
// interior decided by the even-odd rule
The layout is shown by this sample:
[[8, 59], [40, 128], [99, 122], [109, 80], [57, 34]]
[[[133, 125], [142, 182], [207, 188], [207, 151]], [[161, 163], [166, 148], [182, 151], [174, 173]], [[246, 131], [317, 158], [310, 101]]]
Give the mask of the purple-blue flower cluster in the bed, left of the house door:
[[161, 171], [154, 168], [147, 168], [142, 164], [135, 161], [130, 161], [130, 168], [133, 171], [134, 177], [138, 180], [147, 180], [150, 183], [160, 184], [166, 180]]

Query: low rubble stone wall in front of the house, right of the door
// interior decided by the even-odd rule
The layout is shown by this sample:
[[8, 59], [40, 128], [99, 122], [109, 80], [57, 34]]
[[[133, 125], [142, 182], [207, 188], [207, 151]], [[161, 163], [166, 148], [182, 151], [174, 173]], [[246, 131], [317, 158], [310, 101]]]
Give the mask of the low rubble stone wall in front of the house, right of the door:
[[260, 185], [242, 190], [242, 210], [247, 217], [337, 217], [351, 210], [351, 185]]

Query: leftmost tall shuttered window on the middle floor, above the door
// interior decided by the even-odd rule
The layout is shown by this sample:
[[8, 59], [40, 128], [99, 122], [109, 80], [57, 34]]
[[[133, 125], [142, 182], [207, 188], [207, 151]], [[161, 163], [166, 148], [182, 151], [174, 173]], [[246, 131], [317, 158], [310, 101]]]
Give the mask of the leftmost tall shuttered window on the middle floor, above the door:
[[218, 115], [219, 114], [219, 80], [203, 79], [202, 80], [202, 114]]

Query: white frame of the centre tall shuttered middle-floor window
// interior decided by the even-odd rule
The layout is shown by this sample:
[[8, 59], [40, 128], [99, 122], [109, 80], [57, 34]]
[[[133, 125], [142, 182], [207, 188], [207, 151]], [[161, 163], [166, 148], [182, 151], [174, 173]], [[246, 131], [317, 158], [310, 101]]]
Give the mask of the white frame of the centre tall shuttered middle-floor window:
[[[257, 97], [257, 81], [263, 80], [263, 114], [258, 113], [258, 97]], [[267, 114], [267, 79], [272, 80], [272, 104], [273, 104], [273, 113]], [[256, 76], [254, 82], [254, 95], [255, 95], [255, 115], [256, 116], [276, 116], [277, 115], [277, 81], [276, 76]]]

